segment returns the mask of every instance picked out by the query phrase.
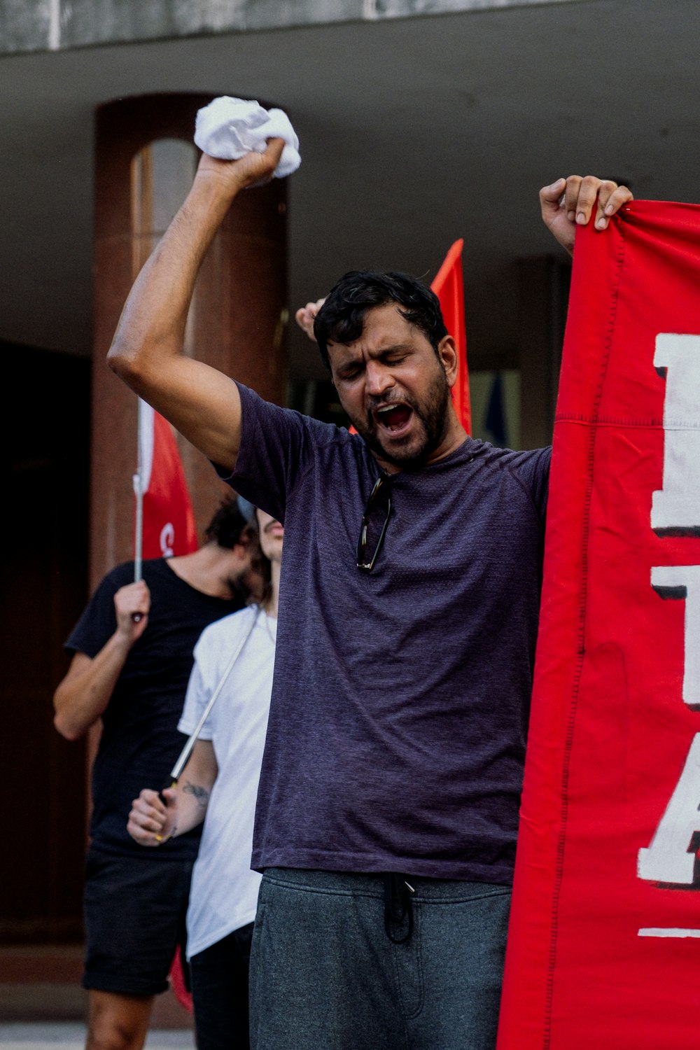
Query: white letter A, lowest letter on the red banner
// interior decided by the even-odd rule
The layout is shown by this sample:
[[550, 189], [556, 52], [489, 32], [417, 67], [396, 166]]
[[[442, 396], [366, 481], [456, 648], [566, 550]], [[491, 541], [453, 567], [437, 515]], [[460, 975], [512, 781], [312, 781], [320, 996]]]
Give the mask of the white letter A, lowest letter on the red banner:
[[688, 886], [695, 877], [700, 833], [700, 733], [696, 733], [676, 790], [649, 849], [640, 849], [637, 875], [650, 882]]

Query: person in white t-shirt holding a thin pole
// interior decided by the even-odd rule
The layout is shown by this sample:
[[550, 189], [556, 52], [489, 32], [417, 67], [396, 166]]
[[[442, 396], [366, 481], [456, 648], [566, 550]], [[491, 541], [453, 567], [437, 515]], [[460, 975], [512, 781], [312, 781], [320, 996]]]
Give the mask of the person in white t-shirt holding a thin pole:
[[[251, 508], [252, 509], [252, 508]], [[239, 649], [173, 789], [134, 800], [130, 835], [163, 846], [205, 821], [187, 912], [197, 1050], [248, 1047], [248, 962], [260, 876], [251, 870], [253, 819], [268, 728], [283, 528], [255, 511], [270, 584], [262, 603], [212, 624], [194, 649], [178, 723], [190, 734]], [[206, 819], [205, 819], [206, 817]]]

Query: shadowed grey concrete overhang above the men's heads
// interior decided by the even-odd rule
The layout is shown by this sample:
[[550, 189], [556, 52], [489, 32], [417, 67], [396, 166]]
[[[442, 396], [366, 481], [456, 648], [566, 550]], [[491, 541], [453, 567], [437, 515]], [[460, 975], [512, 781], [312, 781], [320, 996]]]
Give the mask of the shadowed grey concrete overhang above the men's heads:
[[[38, 23], [50, 4], [28, 6], [22, 17]], [[91, 12], [96, 33], [116, 8], [176, 21], [193, 6], [59, 10], [65, 33]], [[324, 24], [255, 32], [253, 13], [272, 2], [205, 6], [246, 7], [246, 32], [101, 46], [83, 36], [85, 46], [0, 59], [0, 338], [90, 353], [93, 113], [126, 96], [207, 91], [288, 109], [302, 154], [290, 182], [292, 309], [358, 267], [429, 280], [463, 236], [478, 366], [513, 363], [517, 259], [556, 251], [538, 218], [544, 183], [593, 171], [629, 178], [637, 196], [700, 197], [696, 0], [276, 3], [290, 22], [303, 9]], [[5, 4], [5, 23], [19, 7]], [[303, 337], [291, 351], [297, 376], [322, 375]]]

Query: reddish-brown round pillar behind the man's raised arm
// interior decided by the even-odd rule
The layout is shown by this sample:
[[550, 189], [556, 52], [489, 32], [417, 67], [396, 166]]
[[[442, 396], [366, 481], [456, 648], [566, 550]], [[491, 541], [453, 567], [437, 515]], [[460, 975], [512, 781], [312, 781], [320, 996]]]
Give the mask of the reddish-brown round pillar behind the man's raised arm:
[[[100, 107], [96, 131], [90, 585], [133, 554], [136, 397], [105, 358], [133, 279], [182, 204], [211, 96], [155, 94]], [[263, 103], [264, 105], [264, 103]], [[199, 273], [187, 353], [279, 404], [285, 392], [287, 184], [241, 193]], [[199, 533], [225, 491], [178, 436]]]

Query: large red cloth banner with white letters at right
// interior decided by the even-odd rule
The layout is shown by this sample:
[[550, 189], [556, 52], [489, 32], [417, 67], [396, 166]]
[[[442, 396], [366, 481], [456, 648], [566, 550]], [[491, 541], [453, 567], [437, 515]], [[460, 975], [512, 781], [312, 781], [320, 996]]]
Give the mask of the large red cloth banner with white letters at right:
[[578, 233], [499, 1050], [698, 1045], [699, 289], [700, 207]]

